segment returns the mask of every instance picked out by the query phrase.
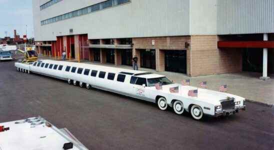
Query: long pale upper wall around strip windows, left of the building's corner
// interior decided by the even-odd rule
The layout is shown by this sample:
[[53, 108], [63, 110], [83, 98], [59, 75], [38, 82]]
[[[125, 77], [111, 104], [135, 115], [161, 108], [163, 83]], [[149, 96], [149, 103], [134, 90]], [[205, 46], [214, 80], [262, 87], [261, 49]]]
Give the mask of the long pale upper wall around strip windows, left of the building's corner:
[[40, 25], [40, 21], [91, 5], [94, 0], [62, 0], [41, 11], [38, 0], [32, 1], [37, 41], [69, 35], [70, 28], [73, 28], [73, 34], [87, 33], [88, 39], [189, 34], [189, 0], [131, 0], [45, 25]]

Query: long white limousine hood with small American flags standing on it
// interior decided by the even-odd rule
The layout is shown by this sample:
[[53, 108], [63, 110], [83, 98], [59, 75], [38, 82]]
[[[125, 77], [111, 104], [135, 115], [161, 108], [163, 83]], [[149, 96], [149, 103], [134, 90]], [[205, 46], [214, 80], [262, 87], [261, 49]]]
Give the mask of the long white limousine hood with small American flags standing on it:
[[[177, 87], [178, 86], [178, 93], [171, 93], [169, 89], [171, 87]], [[188, 91], [192, 89], [197, 89], [198, 94], [196, 97], [188, 96]], [[204, 102], [209, 102], [213, 104], [219, 104], [220, 100], [226, 99], [227, 97], [233, 97], [235, 98], [235, 101], [243, 100], [243, 97], [226, 93], [226, 92], [219, 92], [214, 90], [209, 90], [205, 88], [197, 88], [194, 86], [181, 86], [180, 84], [169, 84], [169, 85], [163, 85], [162, 90], [164, 92], [168, 92], [170, 94], [176, 95], [176, 96], [183, 96], [191, 99], [198, 99]]]

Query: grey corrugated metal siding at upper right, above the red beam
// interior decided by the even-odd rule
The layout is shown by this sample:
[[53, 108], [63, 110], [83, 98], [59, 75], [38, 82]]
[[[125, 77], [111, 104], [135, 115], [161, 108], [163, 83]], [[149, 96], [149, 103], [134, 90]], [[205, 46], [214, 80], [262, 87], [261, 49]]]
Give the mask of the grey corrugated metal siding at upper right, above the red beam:
[[217, 34], [274, 32], [274, 0], [218, 0], [217, 5]]

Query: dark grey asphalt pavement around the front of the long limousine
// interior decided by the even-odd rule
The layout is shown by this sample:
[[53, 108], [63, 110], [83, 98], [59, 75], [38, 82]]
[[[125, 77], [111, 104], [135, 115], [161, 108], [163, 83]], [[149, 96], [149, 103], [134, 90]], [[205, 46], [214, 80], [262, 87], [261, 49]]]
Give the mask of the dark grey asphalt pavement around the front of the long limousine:
[[0, 122], [40, 115], [68, 128], [89, 149], [274, 147], [274, 107], [269, 105], [247, 102], [236, 115], [196, 121], [153, 103], [17, 72], [13, 63], [0, 62]]

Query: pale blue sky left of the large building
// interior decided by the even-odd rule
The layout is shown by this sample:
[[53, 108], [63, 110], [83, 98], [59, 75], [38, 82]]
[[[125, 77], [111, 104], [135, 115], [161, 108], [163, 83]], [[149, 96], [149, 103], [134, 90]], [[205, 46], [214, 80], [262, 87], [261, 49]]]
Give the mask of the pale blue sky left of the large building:
[[33, 37], [32, 0], [0, 0], [0, 37], [14, 37], [16, 29], [20, 37], [26, 32], [27, 37]]

